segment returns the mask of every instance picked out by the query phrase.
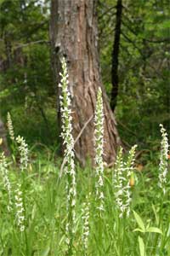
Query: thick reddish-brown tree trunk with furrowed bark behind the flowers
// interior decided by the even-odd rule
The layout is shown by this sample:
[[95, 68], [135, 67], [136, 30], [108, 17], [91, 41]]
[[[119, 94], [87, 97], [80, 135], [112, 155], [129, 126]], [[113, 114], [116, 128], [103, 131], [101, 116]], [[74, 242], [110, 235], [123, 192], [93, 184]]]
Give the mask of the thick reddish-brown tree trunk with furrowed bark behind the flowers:
[[[116, 159], [120, 139], [116, 120], [108, 103], [99, 73], [96, 1], [52, 0], [50, 35], [53, 47], [53, 66], [59, 82], [59, 58], [67, 61], [73, 110], [73, 136], [76, 138], [83, 125], [94, 115], [99, 87], [103, 91], [105, 109], [105, 162]], [[58, 88], [59, 90], [59, 88]], [[58, 91], [59, 96], [59, 91]], [[59, 102], [59, 99], [58, 99]], [[75, 144], [77, 159], [85, 164], [94, 159], [94, 119], [86, 126]]]

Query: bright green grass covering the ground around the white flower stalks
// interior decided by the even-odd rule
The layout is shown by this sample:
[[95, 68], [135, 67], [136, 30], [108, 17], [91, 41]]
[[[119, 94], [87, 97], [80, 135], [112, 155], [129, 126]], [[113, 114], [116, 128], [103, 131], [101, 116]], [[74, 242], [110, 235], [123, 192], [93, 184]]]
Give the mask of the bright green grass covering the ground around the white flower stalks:
[[[26, 208], [26, 230], [20, 232], [15, 208], [8, 212], [8, 195], [0, 173], [0, 255], [48, 256], [66, 255], [65, 224], [66, 196], [65, 175], [59, 178], [60, 163], [37, 156], [21, 175], [17, 163], [8, 160], [8, 174], [12, 183], [14, 203], [17, 183], [22, 183]], [[77, 230], [74, 237], [75, 255], [170, 255], [170, 183], [167, 195], [157, 186], [158, 167], [148, 163], [142, 172], [135, 172], [136, 183], [132, 190], [133, 201], [129, 218], [119, 218], [114, 201], [111, 169], [105, 169], [105, 212], [97, 218], [94, 170], [77, 166]], [[90, 196], [90, 234], [88, 252], [82, 246], [82, 203]], [[133, 211], [147, 226], [160, 228], [162, 235], [139, 229]], [[139, 240], [144, 241], [144, 254], [139, 252]], [[140, 240], [141, 241], [141, 240]], [[142, 247], [140, 242], [140, 247]]]

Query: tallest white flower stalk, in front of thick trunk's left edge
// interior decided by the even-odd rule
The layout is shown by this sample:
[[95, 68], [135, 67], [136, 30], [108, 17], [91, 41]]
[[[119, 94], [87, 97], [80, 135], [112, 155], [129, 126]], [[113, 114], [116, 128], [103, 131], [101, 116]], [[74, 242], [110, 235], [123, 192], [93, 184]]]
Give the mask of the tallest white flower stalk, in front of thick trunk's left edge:
[[59, 87], [61, 88], [60, 111], [62, 120], [63, 145], [65, 146], [65, 175], [67, 177], [66, 194], [67, 194], [67, 224], [66, 224], [66, 243], [68, 245], [68, 254], [73, 253], [73, 238], [75, 235], [76, 226], [76, 171], [75, 171], [75, 154], [74, 154], [74, 139], [72, 136], [72, 116], [71, 116], [71, 93], [68, 89], [68, 73], [65, 58], [61, 61], [62, 73]]

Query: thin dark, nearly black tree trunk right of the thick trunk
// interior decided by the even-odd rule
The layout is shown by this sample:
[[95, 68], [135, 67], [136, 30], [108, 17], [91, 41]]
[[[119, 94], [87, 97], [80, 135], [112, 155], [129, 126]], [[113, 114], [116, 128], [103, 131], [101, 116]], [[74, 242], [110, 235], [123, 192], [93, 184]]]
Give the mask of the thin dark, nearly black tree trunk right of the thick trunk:
[[121, 26], [122, 26], [122, 0], [117, 0], [116, 4], [116, 27], [115, 27], [115, 38], [113, 43], [112, 51], [112, 67], [111, 67], [111, 109], [112, 111], [116, 108], [116, 99], [118, 95], [119, 76], [118, 76], [118, 65], [119, 65], [119, 45], [121, 39]]

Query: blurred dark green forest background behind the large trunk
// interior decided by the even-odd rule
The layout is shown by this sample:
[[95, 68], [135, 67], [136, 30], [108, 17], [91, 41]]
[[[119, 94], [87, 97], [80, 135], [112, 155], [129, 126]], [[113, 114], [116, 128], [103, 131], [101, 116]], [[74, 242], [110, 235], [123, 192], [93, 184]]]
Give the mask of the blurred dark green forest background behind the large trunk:
[[[97, 6], [99, 61], [110, 101], [119, 2], [99, 0]], [[127, 148], [139, 145], [144, 165], [160, 147], [159, 124], [170, 130], [170, 4], [122, 4], [117, 130]], [[0, 1], [0, 114], [6, 123], [10, 112], [16, 134], [41, 154], [60, 150], [49, 24], [49, 0]]]

